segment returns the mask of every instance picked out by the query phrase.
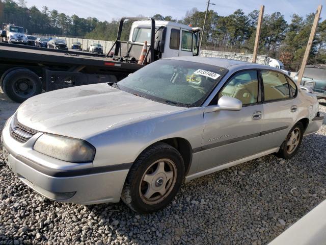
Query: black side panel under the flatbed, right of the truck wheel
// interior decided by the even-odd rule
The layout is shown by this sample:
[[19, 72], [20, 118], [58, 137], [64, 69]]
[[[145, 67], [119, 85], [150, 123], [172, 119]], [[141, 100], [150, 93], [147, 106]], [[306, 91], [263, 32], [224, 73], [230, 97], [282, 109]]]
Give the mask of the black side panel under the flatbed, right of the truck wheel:
[[45, 69], [44, 74], [46, 91], [86, 84], [117, 82], [117, 78], [114, 75], [84, 74], [82, 72], [53, 71], [48, 69]]

